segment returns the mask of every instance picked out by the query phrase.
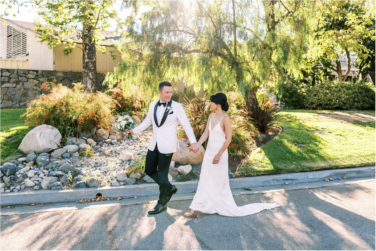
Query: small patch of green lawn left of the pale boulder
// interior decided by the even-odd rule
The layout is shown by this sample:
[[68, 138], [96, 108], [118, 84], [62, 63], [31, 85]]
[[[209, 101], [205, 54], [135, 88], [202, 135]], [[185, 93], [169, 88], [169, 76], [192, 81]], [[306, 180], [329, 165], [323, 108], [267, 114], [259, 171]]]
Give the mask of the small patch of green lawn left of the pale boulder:
[[1, 164], [22, 155], [18, 151], [22, 139], [32, 129], [24, 125], [24, 118], [20, 115], [26, 108], [0, 110], [0, 162]]

